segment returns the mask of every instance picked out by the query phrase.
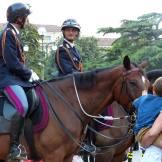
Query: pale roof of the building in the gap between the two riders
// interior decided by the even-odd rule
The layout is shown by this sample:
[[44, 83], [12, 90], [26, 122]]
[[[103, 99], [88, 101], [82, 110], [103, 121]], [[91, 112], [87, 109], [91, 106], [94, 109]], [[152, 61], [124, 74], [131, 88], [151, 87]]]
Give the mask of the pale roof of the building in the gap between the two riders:
[[[47, 32], [58, 33], [61, 32], [61, 27], [57, 25], [46, 25], [46, 24], [33, 24], [37, 28], [44, 27]], [[5, 23], [0, 23], [0, 28], [3, 28]]]

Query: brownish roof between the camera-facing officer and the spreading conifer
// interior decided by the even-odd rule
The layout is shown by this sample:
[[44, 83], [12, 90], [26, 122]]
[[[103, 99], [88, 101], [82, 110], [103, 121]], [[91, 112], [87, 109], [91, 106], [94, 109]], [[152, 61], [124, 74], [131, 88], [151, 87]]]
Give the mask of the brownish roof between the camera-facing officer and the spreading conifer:
[[115, 40], [116, 38], [98, 38], [98, 45], [100, 47], [108, 47], [111, 46]]

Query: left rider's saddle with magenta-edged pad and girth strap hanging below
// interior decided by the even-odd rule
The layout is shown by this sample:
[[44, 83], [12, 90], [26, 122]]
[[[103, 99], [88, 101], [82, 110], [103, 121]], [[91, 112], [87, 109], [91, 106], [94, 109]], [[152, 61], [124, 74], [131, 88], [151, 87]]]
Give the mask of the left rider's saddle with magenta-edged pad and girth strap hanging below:
[[[29, 110], [24, 125], [24, 137], [30, 151], [30, 158], [40, 160], [34, 146], [33, 133], [38, 133], [46, 128], [49, 119], [48, 101], [40, 86], [26, 91]], [[0, 134], [11, 132], [11, 120], [17, 110], [10, 104], [3, 92], [0, 91]]]

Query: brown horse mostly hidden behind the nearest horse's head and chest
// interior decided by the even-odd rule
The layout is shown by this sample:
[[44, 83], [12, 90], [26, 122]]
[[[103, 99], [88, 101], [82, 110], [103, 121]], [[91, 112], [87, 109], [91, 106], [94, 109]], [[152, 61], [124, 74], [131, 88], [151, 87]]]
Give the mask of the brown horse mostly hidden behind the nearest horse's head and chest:
[[[147, 78], [149, 79], [150, 83], [153, 83], [158, 77], [162, 76], [162, 69], [155, 69], [148, 71], [146, 73]], [[115, 116], [123, 116], [127, 115], [126, 112], [122, 111], [121, 105], [114, 102], [112, 104], [114, 110], [114, 117]], [[124, 109], [124, 108], [123, 108]], [[128, 131], [126, 128], [123, 128], [122, 125], [128, 125], [128, 120], [119, 120], [113, 122], [113, 125], [119, 125], [119, 128], [105, 128], [104, 130], [100, 131], [101, 134], [107, 137], [114, 138], [116, 135], [118, 137], [124, 136]], [[121, 126], [121, 127], [120, 127]], [[134, 140], [133, 137], [130, 136], [128, 140], [123, 140], [120, 144], [117, 144], [117, 140], [107, 140], [106, 138], [102, 137], [101, 135], [96, 135], [96, 142], [95, 144], [98, 146], [109, 146], [114, 144], [115, 147], [105, 147], [106, 149], [103, 150], [103, 154], [96, 155], [96, 162], [122, 162], [125, 156], [125, 150], [133, 144]]]

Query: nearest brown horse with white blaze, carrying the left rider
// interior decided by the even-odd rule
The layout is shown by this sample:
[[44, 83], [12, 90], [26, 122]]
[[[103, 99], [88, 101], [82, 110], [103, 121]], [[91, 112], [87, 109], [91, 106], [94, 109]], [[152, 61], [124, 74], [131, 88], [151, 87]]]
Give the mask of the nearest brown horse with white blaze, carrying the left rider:
[[[131, 102], [147, 88], [141, 67], [125, 57], [123, 65], [111, 70], [76, 73], [43, 82], [50, 118], [47, 127], [34, 134], [37, 154], [45, 162], [71, 162], [91, 117], [100, 114], [114, 100], [127, 107], [128, 112], [132, 111]], [[0, 144], [0, 159], [5, 160], [9, 136], [1, 135]]]

